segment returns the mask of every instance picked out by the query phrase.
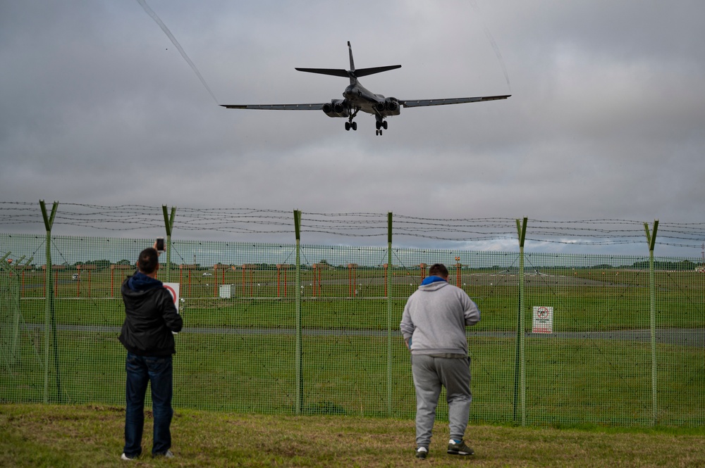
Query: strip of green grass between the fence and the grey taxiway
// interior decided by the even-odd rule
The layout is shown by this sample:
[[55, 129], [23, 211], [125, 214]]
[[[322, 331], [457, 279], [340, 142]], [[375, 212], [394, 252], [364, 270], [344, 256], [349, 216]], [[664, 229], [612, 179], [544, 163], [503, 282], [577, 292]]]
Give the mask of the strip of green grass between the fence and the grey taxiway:
[[[39, 337], [37, 337], [39, 341]], [[177, 337], [174, 404], [201, 410], [290, 415], [295, 412], [295, 337], [188, 334]], [[50, 367], [50, 401], [118, 405], [124, 398], [125, 351], [116, 334], [59, 332], [59, 374]], [[302, 410], [306, 414], [386, 417], [386, 338], [305, 336]], [[515, 419], [515, 341], [470, 343], [474, 422]], [[51, 355], [50, 364], [54, 363]], [[704, 417], [701, 348], [658, 346], [658, 422], [698, 426]], [[415, 394], [408, 351], [393, 341], [391, 416], [412, 417]], [[532, 424], [651, 424], [649, 343], [582, 339], [529, 341], [527, 419]], [[41, 402], [42, 360], [29, 343], [0, 381], [0, 403]], [[445, 396], [438, 415], [447, 419]]]

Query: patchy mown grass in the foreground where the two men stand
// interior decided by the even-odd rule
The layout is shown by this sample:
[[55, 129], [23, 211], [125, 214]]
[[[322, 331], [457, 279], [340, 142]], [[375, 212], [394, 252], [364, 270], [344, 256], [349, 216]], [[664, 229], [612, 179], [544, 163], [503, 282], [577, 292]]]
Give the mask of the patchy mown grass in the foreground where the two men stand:
[[[124, 407], [0, 405], [0, 466], [124, 467]], [[472, 424], [475, 455], [446, 454], [436, 422], [427, 460], [416, 460], [410, 419], [233, 415], [176, 410], [175, 457], [152, 459], [147, 412], [135, 467], [702, 467], [705, 429], [533, 428]]]

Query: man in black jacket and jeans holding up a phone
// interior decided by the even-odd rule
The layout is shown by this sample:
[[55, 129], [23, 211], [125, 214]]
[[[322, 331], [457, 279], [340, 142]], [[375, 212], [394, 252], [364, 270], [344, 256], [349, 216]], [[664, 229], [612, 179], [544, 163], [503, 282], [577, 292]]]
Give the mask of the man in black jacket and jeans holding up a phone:
[[[155, 244], [156, 246], [156, 244]], [[145, 425], [145, 393], [152, 384], [154, 435], [152, 456], [173, 457], [171, 453], [172, 332], [183, 327], [171, 294], [157, 279], [159, 253], [145, 248], [137, 260], [137, 272], [125, 279], [121, 287], [125, 303], [125, 322], [120, 341], [128, 350], [125, 363], [125, 449], [123, 460], [142, 453]]]

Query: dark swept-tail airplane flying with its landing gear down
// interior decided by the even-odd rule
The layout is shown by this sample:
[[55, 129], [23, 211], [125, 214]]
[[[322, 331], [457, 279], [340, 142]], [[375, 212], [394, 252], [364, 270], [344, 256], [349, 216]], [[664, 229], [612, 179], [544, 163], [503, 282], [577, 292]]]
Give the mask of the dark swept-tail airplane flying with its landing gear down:
[[331, 99], [325, 103], [309, 104], [220, 104], [228, 109], [266, 109], [266, 110], [323, 110], [329, 117], [347, 118], [345, 130], [357, 130], [357, 122], [353, 119], [357, 113], [362, 112], [374, 115], [376, 120], [376, 135], [381, 135], [382, 130], [387, 129], [385, 118], [391, 115], [399, 115], [402, 107], [421, 106], [445, 106], [447, 104], [462, 104], [481, 101], [495, 101], [496, 99], [507, 99], [511, 94], [505, 96], [479, 96], [472, 98], [446, 98], [446, 99], [396, 99], [384, 97], [381, 94], [374, 94], [364, 88], [359, 77], [374, 75], [374, 73], [386, 72], [401, 68], [401, 65], [387, 65], [384, 67], [359, 68], [355, 69], [353, 63], [353, 47], [348, 41], [348, 52], [350, 53], [350, 70], [333, 68], [295, 68], [300, 72], [319, 73], [321, 75], [332, 75], [337, 77], [349, 77], [350, 84], [343, 91], [344, 99]]

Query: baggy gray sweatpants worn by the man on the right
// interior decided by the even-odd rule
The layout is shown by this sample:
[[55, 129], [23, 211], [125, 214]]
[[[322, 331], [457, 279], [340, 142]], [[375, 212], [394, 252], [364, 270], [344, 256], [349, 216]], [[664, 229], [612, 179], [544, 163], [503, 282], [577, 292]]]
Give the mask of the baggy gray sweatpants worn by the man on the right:
[[411, 356], [411, 372], [416, 388], [416, 446], [428, 448], [431, 443], [441, 386], [446, 387], [450, 438], [462, 439], [472, 401], [470, 357], [434, 358], [415, 354]]

